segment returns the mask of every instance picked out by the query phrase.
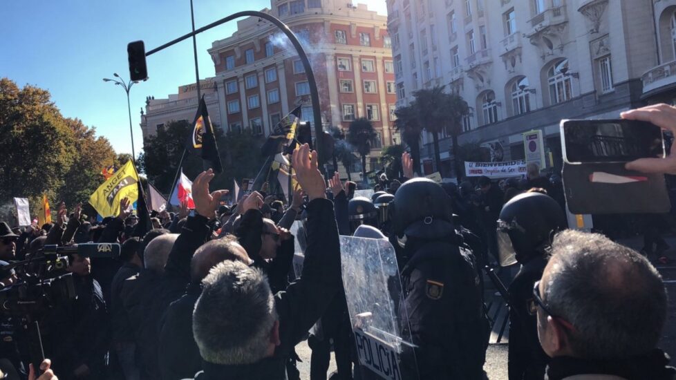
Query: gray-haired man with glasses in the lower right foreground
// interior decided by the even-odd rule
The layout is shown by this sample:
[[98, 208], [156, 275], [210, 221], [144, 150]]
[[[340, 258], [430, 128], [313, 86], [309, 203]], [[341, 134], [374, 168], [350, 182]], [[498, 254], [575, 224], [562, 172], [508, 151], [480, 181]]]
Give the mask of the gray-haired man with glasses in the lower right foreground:
[[599, 234], [561, 232], [530, 307], [552, 357], [548, 379], [673, 379], [656, 348], [666, 304], [661, 276], [637, 251]]

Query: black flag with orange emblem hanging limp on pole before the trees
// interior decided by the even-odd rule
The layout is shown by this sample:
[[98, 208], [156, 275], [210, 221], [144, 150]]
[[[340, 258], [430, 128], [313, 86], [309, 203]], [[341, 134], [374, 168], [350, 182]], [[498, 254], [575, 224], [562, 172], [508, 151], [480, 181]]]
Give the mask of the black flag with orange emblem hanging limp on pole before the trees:
[[200, 99], [200, 106], [197, 108], [197, 115], [195, 115], [195, 121], [192, 123], [187, 146], [190, 151], [202, 156], [204, 170], [211, 168], [214, 169], [214, 173], [223, 172], [223, 164], [220, 163], [220, 154], [214, 136], [214, 127], [209, 119], [204, 95]]

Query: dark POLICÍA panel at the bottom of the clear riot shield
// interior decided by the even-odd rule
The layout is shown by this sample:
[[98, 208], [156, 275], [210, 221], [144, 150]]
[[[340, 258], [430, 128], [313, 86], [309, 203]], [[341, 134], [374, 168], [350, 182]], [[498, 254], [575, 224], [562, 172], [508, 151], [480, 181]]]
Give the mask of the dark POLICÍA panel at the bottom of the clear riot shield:
[[399, 355], [394, 347], [359, 329], [355, 329], [359, 363], [377, 373], [383, 379], [401, 380]]

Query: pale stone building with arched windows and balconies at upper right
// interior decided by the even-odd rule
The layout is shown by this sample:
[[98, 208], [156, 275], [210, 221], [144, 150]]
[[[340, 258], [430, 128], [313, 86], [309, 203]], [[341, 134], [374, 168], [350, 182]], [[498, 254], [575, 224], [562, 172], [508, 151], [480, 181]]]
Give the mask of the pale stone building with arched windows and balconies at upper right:
[[[673, 98], [673, 0], [387, 0], [397, 105], [420, 88], [446, 85], [471, 106], [459, 142], [494, 160], [524, 158], [525, 131], [543, 131], [561, 169], [558, 124], [619, 117]], [[666, 91], [666, 92], [665, 92]], [[450, 138], [435, 168], [431, 135], [422, 170], [452, 173]], [[552, 165], [553, 163], [553, 165]]]

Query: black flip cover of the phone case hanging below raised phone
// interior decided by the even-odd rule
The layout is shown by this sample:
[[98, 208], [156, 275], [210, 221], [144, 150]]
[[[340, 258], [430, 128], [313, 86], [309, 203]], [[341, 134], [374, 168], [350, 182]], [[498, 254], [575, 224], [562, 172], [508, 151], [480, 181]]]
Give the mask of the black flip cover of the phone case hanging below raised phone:
[[[639, 175], [647, 181], [626, 184], [590, 182], [590, 174], [604, 171], [617, 175]], [[623, 163], [567, 164], [561, 177], [570, 212], [580, 213], [666, 213], [671, 205], [663, 174], [646, 174], [624, 169]]]

